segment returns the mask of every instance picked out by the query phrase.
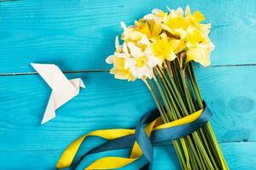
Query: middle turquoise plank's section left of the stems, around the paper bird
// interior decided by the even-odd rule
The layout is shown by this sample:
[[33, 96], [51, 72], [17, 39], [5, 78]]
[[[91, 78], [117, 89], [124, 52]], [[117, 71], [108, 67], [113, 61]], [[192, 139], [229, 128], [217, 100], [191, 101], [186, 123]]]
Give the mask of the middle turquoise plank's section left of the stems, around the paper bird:
[[50, 93], [44, 80], [35, 75], [0, 77], [0, 150], [65, 147], [95, 129], [135, 127], [154, 108], [143, 82], [114, 80], [108, 72], [67, 76], [82, 77], [87, 88], [43, 126]]

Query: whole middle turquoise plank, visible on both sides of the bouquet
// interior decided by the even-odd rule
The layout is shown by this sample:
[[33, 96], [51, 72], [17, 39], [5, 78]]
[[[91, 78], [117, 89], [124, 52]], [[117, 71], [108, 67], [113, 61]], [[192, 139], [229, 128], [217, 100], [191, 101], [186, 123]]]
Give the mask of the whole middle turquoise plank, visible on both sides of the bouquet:
[[[255, 141], [255, 66], [196, 69], [221, 142]], [[0, 77], [0, 150], [64, 148], [100, 128], [135, 127], [154, 102], [143, 82], [114, 80], [108, 72], [67, 74], [87, 88], [40, 125], [49, 87], [38, 75]]]

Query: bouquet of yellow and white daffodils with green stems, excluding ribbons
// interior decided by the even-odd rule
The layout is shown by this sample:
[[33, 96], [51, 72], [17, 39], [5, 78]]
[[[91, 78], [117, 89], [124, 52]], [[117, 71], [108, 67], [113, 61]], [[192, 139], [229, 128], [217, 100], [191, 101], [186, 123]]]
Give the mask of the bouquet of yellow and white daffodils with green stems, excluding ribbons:
[[[115, 78], [145, 82], [164, 122], [204, 109], [192, 65], [210, 65], [214, 46], [208, 37], [211, 24], [202, 24], [204, 19], [187, 7], [185, 12], [154, 9], [134, 26], [122, 22], [123, 43], [116, 37], [116, 50], [106, 59]], [[182, 169], [229, 169], [210, 122], [172, 143]]]

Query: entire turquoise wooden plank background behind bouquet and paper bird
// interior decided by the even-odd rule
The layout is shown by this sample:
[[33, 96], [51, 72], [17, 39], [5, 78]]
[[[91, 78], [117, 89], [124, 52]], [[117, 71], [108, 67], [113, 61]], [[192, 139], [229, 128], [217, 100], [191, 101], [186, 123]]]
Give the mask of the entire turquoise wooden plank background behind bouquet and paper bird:
[[[0, 169], [55, 169], [74, 139], [133, 127], [154, 102], [142, 82], [114, 80], [104, 59], [119, 22], [152, 8], [190, 5], [212, 23], [212, 66], [196, 68], [212, 126], [230, 169], [256, 169], [256, 1], [26, 0], [0, 3]], [[47, 84], [31, 62], [55, 63], [87, 88], [40, 125]], [[88, 145], [90, 148], [90, 144]], [[154, 148], [153, 169], [179, 169], [171, 145]]]

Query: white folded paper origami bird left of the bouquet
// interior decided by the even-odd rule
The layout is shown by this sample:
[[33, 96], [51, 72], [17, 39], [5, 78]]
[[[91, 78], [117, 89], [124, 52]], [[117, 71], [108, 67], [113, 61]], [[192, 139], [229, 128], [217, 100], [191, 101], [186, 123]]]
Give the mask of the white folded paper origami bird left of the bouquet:
[[32, 63], [31, 65], [52, 89], [48, 105], [44, 112], [43, 124], [55, 118], [55, 110], [78, 95], [80, 87], [85, 88], [84, 82], [81, 78], [68, 80], [57, 65], [36, 63]]

